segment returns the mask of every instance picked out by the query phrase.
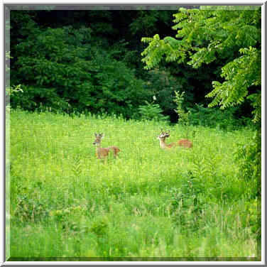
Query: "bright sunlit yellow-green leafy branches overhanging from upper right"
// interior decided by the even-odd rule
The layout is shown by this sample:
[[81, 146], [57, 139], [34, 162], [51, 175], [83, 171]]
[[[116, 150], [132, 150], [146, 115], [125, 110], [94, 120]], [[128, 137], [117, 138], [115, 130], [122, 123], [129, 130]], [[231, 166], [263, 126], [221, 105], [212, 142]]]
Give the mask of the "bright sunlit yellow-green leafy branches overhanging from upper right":
[[[212, 82], [210, 107], [253, 100], [254, 121], [261, 118], [261, 10], [180, 9], [175, 14], [176, 38], [143, 38], [148, 43], [142, 55], [146, 69], [165, 60], [187, 61], [194, 68], [220, 59], [223, 82]], [[256, 88], [251, 88], [256, 87]]]

